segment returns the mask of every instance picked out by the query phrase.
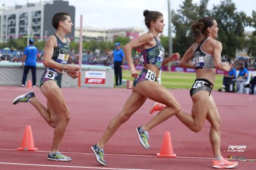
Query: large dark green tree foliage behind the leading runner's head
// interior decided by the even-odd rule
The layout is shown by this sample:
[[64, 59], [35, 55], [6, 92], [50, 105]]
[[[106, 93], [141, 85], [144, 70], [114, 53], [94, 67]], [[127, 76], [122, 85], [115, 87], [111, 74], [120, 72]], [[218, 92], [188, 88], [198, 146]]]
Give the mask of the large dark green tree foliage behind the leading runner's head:
[[223, 44], [222, 55], [233, 59], [236, 57], [237, 50], [244, 49], [246, 44], [244, 27], [254, 25], [255, 16], [252, 19], [244, 12], [237, 12], [236, 4], [231, 0], [221, 1], [221, 4], [213, 6], [212, 10], [208, 10], [207, 5], [208, 0], [201, 0], [198, 5], [193, 4], [192, 0], [184, 0], [177, 12], [172, 11], [173, 32], [175, 33], [174, 52], [177, 51], [181, 56], [184, 55], [186, 49], [194, 43], [190, 31], [192, 23], [202, 17], [211, 16], [215, 18], [220, 29], [218, 41]]

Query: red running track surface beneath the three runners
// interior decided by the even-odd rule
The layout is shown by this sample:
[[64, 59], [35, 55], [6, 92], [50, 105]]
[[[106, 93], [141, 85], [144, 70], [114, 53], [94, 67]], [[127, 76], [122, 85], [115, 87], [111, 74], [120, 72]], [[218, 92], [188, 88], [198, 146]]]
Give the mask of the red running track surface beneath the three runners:
[[[48, 161], [53, 129], [28, 103], [12, 105], [17, 95], [31, 89], [0, 86], [0, 169], [212, 169], [210, 124], [195, 133], [176, 117], [155, 127], [150, 132], [150, 150], [139, 143], [135, 128], [147, 123], [154, 115], [148, 113], [154, 103], [147, 100], [132, 118], [124, 123], [106, 145], [105, 160], [108, 166], [100, 166], [90, 147], [98, 142], [109, 121], [119, 113], [130, 89], [74, 89], [62, 92], [70, 109], [71, 119], [62, 140], [61, 152], [72, 157], [70, 162]], [[33, 89], [44, 105], [46, 99], [39, 88]], [[192, 100], [188, 89], [170, 89], [190, 112]], [[212, 92], [222, 120], [221, 152], [223, 156], [243, 156], [236, 169], [256, 169], [256, 95]], [[25, 126], [32, 127], [35, 147], [38, 151], [17, 151], [22, 142]], [[171, 133], [171, 142], [177, 158], [158, 158], [164, 132]], [[228, 152], [229, 146], [246, 146], [245, 152]]]

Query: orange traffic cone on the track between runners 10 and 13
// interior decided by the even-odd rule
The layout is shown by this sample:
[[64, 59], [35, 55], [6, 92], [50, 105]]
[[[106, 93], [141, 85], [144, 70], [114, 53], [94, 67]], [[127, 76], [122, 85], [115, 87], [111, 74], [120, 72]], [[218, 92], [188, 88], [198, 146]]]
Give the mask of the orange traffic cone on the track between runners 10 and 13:
[[163, 144], [161, 146], [160, 153], [158, 153], [157, 156], [176, 158], [176, 154], [173, 153], [170, 132], [164, 132]]

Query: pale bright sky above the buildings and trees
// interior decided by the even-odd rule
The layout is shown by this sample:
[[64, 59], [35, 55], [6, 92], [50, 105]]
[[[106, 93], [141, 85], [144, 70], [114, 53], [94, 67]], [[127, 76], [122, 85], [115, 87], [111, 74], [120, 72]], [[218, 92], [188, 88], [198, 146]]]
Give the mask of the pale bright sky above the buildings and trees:
[[[44, 0], [41, 0], [44, 1]], [[220, 4], [221, 0], [210, 0], [208, 9], [212, 9], [213, 3]], [[247, 15], [252, 15], [252, 10], [256, 10], [256, 0], [232, 0], [237, 7], [237, 11], [244, 11]], [[40, 0], [1, 0], [1, 4], [14, 6], [25, 4], [26, 2], [40, 2]], [[177, 10], [182, 4], [181, 0], [171, 0], [171, 9]], [[199, 3], [200, 0], [193, 0]], [[143, 21], [143, 10], [158, 10], [163, 13], [165, 20], [164, 34], [168, 34], [168, 0], [69, 0], [71, 6], [75, 6], [75, 26], [80, 25], [80, 15], [83, 15], [83, 26], [96, 28], [131, 28], [138, 27], [146, 30]], [[246, 28], [253, 31], [254, 28]]]

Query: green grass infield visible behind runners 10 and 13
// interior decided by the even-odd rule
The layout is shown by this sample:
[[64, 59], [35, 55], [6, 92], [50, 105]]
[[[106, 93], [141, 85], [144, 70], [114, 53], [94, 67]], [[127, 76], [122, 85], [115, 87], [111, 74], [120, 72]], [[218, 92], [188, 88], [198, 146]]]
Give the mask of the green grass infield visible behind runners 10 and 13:
[[[122, 78], [134, 80], [130, 76], [130, 70], [122, 70]], [[195, 73], [162, 71], [161, 84], [167, 89], [190, 89], [195, 81]], [[216, 75], [213, 89], [219, 89], [223, 81], [223, 75]]]

